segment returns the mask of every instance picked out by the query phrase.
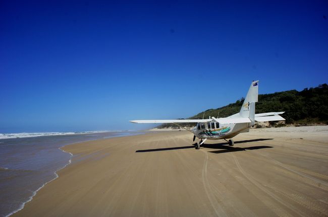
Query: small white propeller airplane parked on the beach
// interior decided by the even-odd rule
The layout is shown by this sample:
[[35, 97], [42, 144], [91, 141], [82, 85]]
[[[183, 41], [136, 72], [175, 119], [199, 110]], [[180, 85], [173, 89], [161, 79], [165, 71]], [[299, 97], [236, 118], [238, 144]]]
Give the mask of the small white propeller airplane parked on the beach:
[[[132, 123], [173, 123], [179, 127], [185, 128], [179, 123], [197, 123], [192, 130], [186, 130], [194, 134], [195, 138], [200, 138], [199, 143], [194, 143], [196, 149], [199, 149], [206, 139], [225, 139], [229, 146], [234, 146], [234, 140], [231, 138], [242, 132], [249, 132], [255, 121], [279, 121], [285, 120], [280, 114], [284, 112], [268, 112], [255, 114], [255, 103], [258, 97], [258, 81], [253, 81], [240, 112], [225, 118], [209, 119], [180, 119], [180, 120], [130, 120]], [[204, 140], [203, 140], [204, 139]], [[229, 139], [229, 141], [227, 140]]]

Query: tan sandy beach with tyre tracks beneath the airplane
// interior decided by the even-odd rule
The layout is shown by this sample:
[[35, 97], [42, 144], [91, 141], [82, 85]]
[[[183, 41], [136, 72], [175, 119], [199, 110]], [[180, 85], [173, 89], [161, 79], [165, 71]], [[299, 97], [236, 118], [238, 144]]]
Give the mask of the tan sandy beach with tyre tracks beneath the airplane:
[[328, 127], [251, 129], [200, 150], [188, 131], [75, 143], [12, 216], [327, 216]]

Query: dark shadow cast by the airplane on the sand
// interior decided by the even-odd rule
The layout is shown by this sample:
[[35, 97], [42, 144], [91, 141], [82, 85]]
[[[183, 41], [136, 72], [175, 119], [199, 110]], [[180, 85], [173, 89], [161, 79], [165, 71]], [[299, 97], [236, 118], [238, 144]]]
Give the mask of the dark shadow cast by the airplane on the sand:
[[[273, 138], [258, 138], [258, 139], [241, 140], [241, 141], [235, 141], [235, 144], [236, 143], [252, 142], [252, 141], [264, 141], [264, 140], [270, 140], [270, 139], [273, 139]], [[215, 154], [226, 153], [226, 152], [240, 152], [240, 151], [246, 151], [246, 150], [274, 148], [274, 147], [271, 147], [271, 146], [253, 146], [253, 147], [240, 148], [240, 147], [228, 146], [227, 142], [215, 143], [215, 144], [203, 143], [201, 145], [201, 147], [208, 148], [208, 149], [220, 149], [220, 150], [217, 150], [217, 151], [210, 151], [210, 153], [215, 153]], [[178, 149], [194, 149], [194, 148], [195, 148], [194, 146], [183, 146], [183, 147], [170, 147], [170, 148], [137, 150], [136, 152], [159, 152], [159, 151], [170, 151], [170, 150], [178, 150]]]

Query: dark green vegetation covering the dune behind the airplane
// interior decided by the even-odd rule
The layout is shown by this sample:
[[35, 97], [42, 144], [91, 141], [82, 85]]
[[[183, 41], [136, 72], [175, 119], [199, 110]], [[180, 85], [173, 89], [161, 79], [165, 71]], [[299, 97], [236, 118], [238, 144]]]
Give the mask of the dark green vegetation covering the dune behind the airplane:
[[[202, 119], [211, 117], [228, 117], [239, 112], [244, 98], [235, 103], [217, 109], [208, 109], [188, 119]], [[303, 91], [283, 91], [273, 94], [259, 94], [255, 107], [255, 114], [265, 112], [285, 111], [282, 116], [286, 124], [328, 123], [328, 86], [319, 85], [316, 88], [305, 88]], [[188, 126], [190, 124], [183, 124]], [[175, 126], [161, 124], [158, 128]]]

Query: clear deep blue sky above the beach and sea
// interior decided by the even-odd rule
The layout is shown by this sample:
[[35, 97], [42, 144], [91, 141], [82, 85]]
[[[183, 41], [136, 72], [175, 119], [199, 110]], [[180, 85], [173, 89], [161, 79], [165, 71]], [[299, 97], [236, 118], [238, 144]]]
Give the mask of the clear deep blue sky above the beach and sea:
[[120, 2], [1, 1], [0, 132], [137, 129], [252, 80], [328, 83], [327, 1]]

